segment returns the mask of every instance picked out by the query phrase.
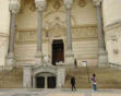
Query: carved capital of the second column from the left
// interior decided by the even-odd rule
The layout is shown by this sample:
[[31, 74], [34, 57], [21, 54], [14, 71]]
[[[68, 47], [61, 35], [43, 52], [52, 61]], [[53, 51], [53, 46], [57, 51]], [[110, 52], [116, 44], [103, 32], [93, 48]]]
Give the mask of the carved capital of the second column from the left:
[[46, 0], [35, 0], [35, 4], [38, 11], [44, 11], [46, 8]]

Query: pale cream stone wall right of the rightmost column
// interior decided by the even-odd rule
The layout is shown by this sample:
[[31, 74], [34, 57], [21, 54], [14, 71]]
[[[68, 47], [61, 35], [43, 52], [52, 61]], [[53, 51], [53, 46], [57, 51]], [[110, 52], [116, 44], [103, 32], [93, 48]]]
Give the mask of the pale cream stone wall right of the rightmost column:
[[108, 60], [121, 64], [121, 0], [104, 0], [104, 28]]

